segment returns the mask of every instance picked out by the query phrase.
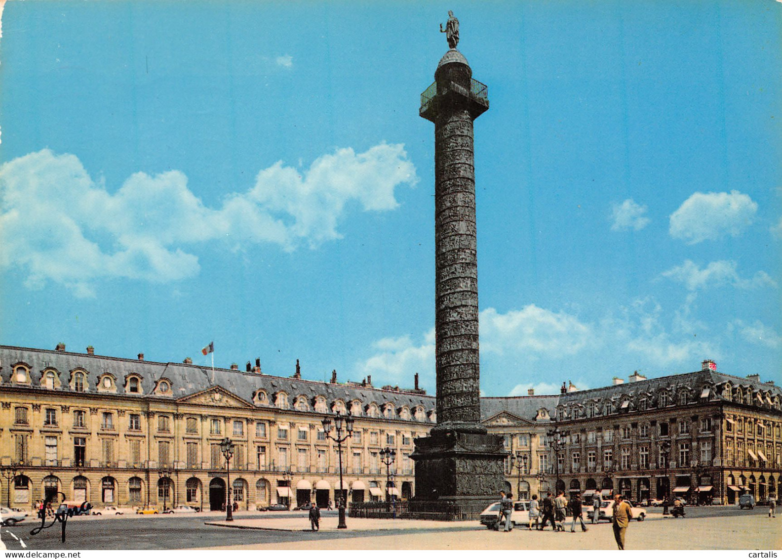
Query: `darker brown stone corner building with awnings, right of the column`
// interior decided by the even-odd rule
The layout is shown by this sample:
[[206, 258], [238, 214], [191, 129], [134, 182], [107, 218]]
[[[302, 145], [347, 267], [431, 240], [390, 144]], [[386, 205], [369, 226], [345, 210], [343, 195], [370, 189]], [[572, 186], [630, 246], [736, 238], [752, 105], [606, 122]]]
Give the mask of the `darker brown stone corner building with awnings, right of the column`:
[[[563, 387], [563, 390], [564, 387]], [[759, 375], [734, 377], [705, 361], [694, 373], [565, 391], [551, 448], [560, 489], [619, 490], [638, 500], [763, 501], [782, 492], [782, 392]]]

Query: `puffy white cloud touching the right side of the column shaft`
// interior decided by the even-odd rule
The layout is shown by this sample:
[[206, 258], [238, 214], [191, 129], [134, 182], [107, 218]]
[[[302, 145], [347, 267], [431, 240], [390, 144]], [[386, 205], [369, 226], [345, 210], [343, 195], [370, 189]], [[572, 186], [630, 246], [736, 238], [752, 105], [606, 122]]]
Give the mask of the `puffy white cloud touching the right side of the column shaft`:
[[561, 355], [579, 352], [590, 339], [590, 327], [565, 312], [551, 312], [536, 305], [520, 311], [480, 313], [481, 349], [485, 352], [524, 352]]

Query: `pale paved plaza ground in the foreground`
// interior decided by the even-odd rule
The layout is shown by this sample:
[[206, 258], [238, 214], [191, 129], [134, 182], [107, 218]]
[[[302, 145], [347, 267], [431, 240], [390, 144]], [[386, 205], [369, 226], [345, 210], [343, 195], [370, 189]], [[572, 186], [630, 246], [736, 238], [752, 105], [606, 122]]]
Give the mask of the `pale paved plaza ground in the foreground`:
[[[662, 518], [648, 510], [643, 522], [627, 531], [629, 550], [779, 550], [782, 516], [768, 518], [766, 510], [736, 507], [692, 507], [687, 518]], [[28, 550], [615, 550], [611, 525], [589, 525], [589, 532], [512, 532], [486, 530], [477, 521], [436, 522], [347, 518], [338, 530], [335, 511], [325, 511], [321, 531], [310, 532], [306, 511], [239, 513], [230, 527], [224, 514], [158, 514], [73, 518], [67, 539], [59, 527], [30, 536], [34, 524], [25, 521], [2, 528], [9, 550], [19, 549], [10, 533]], [[244, 529], [240, 529], [244, 528]]]

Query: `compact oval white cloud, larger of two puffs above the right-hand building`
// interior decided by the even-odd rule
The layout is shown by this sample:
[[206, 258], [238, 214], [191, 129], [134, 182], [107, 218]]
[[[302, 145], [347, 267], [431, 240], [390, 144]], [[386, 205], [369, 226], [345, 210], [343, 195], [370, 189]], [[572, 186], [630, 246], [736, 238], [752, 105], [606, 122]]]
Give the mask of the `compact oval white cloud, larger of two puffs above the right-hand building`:
[[670, 216], [669, 233], [687, 244], [737, 236], [755, 218], [758, 204], [737, 190], [696, 192]]

